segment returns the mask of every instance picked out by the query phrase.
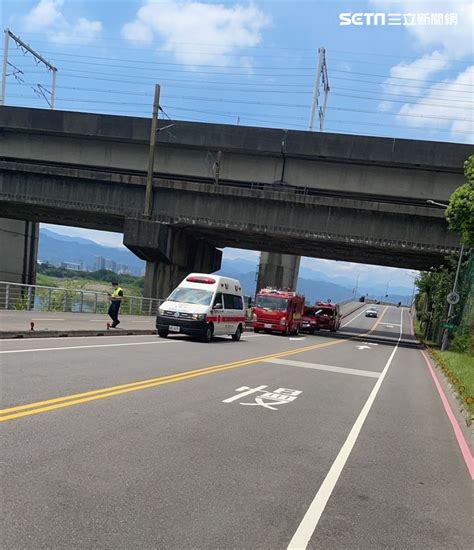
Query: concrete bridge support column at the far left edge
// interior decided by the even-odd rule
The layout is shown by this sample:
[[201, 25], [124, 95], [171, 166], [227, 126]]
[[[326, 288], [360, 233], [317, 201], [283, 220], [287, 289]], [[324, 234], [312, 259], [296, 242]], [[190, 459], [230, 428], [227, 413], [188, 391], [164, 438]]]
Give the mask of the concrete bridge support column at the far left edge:
[[36, 283], [39, 225], [0, 218], [0, 281]]

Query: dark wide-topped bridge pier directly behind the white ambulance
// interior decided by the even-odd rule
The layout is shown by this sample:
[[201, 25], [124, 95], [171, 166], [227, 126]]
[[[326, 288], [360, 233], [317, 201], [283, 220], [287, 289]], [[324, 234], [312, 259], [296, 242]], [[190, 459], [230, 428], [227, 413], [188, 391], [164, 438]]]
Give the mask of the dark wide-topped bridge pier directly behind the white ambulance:
[[123, 242], [147, 262], [144, 295], [148, 298], [166, 298], [188, 273], [213, 273], [221, 267], [221, 250], [164, 224], [126, 220]]

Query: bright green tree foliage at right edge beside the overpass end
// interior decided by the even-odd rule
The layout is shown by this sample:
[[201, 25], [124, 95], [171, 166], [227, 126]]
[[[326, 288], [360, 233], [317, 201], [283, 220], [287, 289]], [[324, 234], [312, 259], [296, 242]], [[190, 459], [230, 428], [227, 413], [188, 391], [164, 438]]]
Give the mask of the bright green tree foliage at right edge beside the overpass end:
[[451, 195], [446, 210], [449, 227], [461, 235], [462, 242], [474, 247], [474, 155], [464, 163], [467, 183]]

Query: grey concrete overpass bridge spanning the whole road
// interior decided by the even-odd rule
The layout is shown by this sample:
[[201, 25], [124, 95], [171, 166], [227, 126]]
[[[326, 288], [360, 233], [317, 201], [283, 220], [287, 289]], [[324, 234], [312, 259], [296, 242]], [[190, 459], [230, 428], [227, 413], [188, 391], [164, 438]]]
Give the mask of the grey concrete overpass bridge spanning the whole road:
[[0, 216], [123, 232], [149, 296], [226, 246], [413, 269], [458, 251], [426, 200], [463, 183], [468, 145], [176, 121], [144, 219], [149, 119], [2, 107], [0, 128]]

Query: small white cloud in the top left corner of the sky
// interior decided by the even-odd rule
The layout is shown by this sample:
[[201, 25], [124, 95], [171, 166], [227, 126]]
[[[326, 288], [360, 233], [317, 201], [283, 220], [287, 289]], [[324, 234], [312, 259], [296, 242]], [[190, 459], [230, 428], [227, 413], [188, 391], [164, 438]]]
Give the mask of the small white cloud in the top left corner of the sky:
[[23, 18], [23, 26], [27, 31], [47, 31], [51, 42], [75, 42], [87, 44], [97, 39], [102, 31], [100, 21], [92, 21], [85, 17], [68, 20], [61, 8], [64, 0], [40, 0]]

